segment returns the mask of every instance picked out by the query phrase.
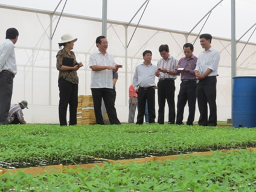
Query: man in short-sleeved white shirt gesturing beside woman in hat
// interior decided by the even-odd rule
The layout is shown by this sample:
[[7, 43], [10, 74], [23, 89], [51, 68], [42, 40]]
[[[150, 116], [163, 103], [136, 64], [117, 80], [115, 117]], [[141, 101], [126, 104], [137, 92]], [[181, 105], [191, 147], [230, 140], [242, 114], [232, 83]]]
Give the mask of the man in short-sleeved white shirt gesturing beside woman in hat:
[[114, 57], [107, 52], [106, 37], [97, 37], [96, 45], [98, 50], [92, 53], [89, 58], [89, 67], [92, 69], [91, 91], [96, 123], [104, 125], [101, 113], [101, 101], [103, 99], [110, 124], [119, 125], [121, 123], [117, 118], [113, 93], [113, 72], [117, 72], [122, 66], [115, 64]]

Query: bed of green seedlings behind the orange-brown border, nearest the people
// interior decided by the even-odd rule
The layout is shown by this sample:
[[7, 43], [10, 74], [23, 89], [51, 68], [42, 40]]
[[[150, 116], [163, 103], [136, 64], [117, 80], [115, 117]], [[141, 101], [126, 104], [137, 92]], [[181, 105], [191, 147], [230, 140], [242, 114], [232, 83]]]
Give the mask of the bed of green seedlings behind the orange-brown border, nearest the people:
[[[0, 161], [92, 163], [206, 150], [254, 147], [256, 129], [178, 125], [8, 125], [0, 128]], [[1, 167], [1, 162], [0, 162]]]

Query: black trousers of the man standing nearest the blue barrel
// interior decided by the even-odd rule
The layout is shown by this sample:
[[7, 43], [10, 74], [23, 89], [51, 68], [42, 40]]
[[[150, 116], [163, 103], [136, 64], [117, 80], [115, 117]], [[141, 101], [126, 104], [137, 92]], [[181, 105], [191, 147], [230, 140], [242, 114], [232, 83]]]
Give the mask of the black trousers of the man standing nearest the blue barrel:
[[[216, 105], [216, 76], [208, 76], [200, 80], [196, 88], [197, 103], [199, 107], [200, 117], [198, 124], [202, 126], [217, 125], [217, 105]], [[210, 115], [208, 119], [208, 107]]]

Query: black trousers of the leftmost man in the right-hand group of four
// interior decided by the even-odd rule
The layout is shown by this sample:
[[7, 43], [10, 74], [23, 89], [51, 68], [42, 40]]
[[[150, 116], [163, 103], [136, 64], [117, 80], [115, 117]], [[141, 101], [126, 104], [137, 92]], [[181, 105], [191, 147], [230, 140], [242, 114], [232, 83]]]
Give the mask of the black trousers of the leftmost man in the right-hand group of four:
[[155, 89], [153, 87], [150, 88], [141, 88], [139, 87], [138, 92], [138, 115], [136, 124], [143, 124], [145, 107], [149, 110], [149, 123], [155, 123], [156, 119], [156, 111], [155, 111]]

